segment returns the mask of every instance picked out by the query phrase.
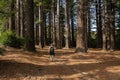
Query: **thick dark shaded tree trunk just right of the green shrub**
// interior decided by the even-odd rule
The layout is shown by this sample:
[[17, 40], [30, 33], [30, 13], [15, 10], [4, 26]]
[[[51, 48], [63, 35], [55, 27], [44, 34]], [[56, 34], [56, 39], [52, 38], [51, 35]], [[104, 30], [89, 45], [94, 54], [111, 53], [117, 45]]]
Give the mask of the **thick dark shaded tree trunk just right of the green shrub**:
[[34, 42], [34, 6], [33, 0], [25, 0], [25, 50], [35, 51]]

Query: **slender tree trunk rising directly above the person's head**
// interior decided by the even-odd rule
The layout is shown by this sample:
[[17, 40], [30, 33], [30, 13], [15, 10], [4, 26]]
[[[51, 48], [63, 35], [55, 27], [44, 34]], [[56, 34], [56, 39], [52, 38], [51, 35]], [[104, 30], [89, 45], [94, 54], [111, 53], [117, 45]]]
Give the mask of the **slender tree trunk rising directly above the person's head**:
[[51, 6], [51, 13], [52, 13], [52, 43], [56, 46], [56, 33], [55, 33], [55, 0], [52, 0]]

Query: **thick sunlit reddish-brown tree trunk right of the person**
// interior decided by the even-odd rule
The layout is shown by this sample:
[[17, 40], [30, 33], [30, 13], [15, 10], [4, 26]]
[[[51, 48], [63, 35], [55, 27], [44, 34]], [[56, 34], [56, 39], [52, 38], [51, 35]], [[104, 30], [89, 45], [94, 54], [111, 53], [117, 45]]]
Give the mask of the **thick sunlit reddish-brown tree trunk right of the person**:
[[85, 0], [78, 1], [78, 27], [77, 27], [77, 41], [76, 41], [76, 52], [87, 52], [86, 48], [86, 36], [85, 36], [85, 26], [84, 26], [84, 7]]

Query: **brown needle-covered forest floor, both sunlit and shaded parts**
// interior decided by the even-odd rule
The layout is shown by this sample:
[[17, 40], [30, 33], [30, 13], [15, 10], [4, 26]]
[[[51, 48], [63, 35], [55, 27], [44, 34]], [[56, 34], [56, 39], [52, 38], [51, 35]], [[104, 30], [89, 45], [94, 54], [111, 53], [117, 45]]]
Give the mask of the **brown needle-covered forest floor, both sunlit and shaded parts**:
[[0, 56], [0, 80], [120, 80], [120, 51], [74, 51], [55, 50], [51, 62], [48, 48], [36, 53], [6, 48]]

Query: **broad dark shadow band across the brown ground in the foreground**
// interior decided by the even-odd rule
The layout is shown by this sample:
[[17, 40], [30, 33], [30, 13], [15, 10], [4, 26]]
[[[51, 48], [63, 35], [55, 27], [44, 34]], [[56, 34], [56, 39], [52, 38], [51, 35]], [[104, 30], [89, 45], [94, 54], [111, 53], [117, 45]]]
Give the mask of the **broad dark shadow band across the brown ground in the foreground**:
[[96, 69], [101, 71], [110, 66], [120, 66], [120, 60], [74, 65], [35, 65], [31, 63], [19, 63], [11, 60], [0, 60], [0, 77], [16, 78], [27, 76], [44, 76], [51, 74], [68, 76]]

